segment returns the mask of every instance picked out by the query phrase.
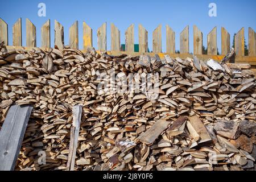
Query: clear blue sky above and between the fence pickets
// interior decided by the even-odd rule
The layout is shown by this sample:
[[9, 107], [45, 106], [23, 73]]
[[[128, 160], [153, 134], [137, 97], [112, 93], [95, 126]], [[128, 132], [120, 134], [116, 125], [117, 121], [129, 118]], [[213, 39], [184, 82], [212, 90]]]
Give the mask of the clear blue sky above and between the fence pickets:
[[[12, 44], [12, 26], [22, 18], [23, 46], [26, 45], [26, 18], [36, 26], [37, 46], [40, 47], [40, 27], [51, 19], [51, 46], [54, 42], [54, 20], [64, 26], [65, 45], [68, 44], [68, 30], [79, 21], [79, 48], [82, 48], [82, 21], [93, 29], [93, 46], [97, 48], [96, 30], [107, 22], [107, 48], [110, 49], [110, 23], [121, 31], [121, 43], [125, 43], [125, 30], [131, 23], [135, 24], [135, 43], [138, 43], [138, 24], [148, 31], [148, 47], [152, 50], [152, 31], [162, 24], [162, 49], [166, 51], [166, 24], [176, 32], [176, 49], [179, 49], [179, 34], [189, 25], [189, 48], [193, 51], [193, 25], [203, 32], [203, 44], [207, 46], [207, 34], [217, 26], [218, 50], [221, 52], [221, 26], [225, 27], [233, 40], [234, 33], [245, 27], [245, 39], [248, 42], [248, 27], [256, 31], [255, 0], [1, 0], [0, 18], [9, 24], [9, 43]], [[46, 4], [46, 17], [38, 16], [38, 4]], [[217, 17], [209, 17], [209, 3], [217, 5]], [[231, 40], [231, 41], [232, 41]]]

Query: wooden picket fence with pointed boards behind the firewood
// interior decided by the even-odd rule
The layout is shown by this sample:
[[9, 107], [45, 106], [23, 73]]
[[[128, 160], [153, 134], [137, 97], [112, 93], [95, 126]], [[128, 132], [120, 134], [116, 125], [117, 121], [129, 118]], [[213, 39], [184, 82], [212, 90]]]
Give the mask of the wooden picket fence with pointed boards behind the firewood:
[[[59, 48], [64, 48], [64, 27], [55, 20], [55, 42], [54, 45]], [[134, 52], [134, 24], [125, 31], [125, 52], [133, 55], [148, 52], [148, 31], [139, 24], [139, 52]], [[92, 28], [88, 24], [83, 22], [83, 49], [92, 47]], [[235, 36], [235, 51], [236, 51], [236, 63], [249, 63], [255, 67], [256, 65], [256, 34], [252, 28], [249, 28], [248, 40], [249, 40], [249, 56], [245, 56], [244, 45], [244, 28], [241, 28]], [[158, 53], [163, 56], [162, 53], [162, 26], [159, 25], [152, 32], [152, 52], [148, 54]], [[97, 30], [97, 44], [99, 51], [106, 51], [106, 23], [102, 24]], [[10, 46], [8, 41], [8, 25], [2, 19], [0, 19], [0, 42], [5, 41], [8, 47], [22, 46], [22, 19], [19, 18], [13, 25], [13, 45]], [[185, 27], [180, 33], [180, 54], [175, 53], [175, 32], [168, 25], [166, 26], [166, 54], [170, 56], [179, 56], [186, 58], [189, 56], [189, 27]], [[36, 47], [36, 27], [29, 20], [26, 19], [26, 48]], [[69, 46], [71, 48], [79, 48], [79, 31], [78, 22], [72, 24], [69, 28]], [[41, 47], [51, 47], [50, 41], [50, 20], [41, 27]], [[221, 55], [217, 55], [217, 27], [214, 27], [212, 31], [207, 35], [207, 55], [203, 55], [203, 33], [197, 26], [193, 27], [193, 53], [199, 57], [199, 59], [221, 60], [224, 55], [230, 51], [230, 34], [224, 27], [221, 27]], [[120, 31], [114, 24], [111, 24], [111, 51], [113, 55], [123, 53], [121, 52], [120, 44]], [[191, 55], [190, 55], [191, 56]]]

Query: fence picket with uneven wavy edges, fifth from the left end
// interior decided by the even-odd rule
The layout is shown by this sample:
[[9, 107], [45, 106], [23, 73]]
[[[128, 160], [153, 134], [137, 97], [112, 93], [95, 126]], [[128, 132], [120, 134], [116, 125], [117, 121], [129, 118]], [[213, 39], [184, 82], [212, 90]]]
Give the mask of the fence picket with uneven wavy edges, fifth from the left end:
[[64, 27], [55, 20], [54, 22], [55, 39], [54, 44], [59, 49], [64, 48]]

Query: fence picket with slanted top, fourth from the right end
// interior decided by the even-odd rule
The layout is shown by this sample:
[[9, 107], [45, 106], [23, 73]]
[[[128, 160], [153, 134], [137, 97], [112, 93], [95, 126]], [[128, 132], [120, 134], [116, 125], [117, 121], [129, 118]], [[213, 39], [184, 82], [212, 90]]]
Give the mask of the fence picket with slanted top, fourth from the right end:
[[217, 52], [217, 27], [214, 27], [207, 35], [207, 54], [217, 55]]

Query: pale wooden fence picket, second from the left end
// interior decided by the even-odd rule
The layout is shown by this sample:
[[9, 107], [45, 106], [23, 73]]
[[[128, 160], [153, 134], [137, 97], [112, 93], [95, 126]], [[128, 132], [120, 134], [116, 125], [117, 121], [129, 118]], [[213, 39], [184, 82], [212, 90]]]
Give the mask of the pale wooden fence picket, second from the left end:
[[22, 46], [22, 19], [19, 18], [13, 26], [13, 46]]

